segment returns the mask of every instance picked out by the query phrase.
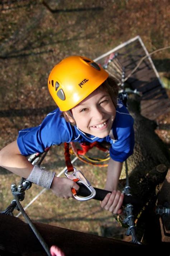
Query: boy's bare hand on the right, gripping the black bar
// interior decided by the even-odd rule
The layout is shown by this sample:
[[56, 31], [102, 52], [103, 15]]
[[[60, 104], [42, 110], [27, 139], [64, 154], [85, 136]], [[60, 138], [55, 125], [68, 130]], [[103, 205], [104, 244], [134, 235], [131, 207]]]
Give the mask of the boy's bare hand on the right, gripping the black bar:
[[113, 190], [112, 194], [108, 193], [103, 201], [100, 202], [101, 208], [104, 208], [107, 211], [112, 212], [113, 214], [122, 214], [123, 210], [121, 209], [124, 199], [124, 194], [119, 190]]

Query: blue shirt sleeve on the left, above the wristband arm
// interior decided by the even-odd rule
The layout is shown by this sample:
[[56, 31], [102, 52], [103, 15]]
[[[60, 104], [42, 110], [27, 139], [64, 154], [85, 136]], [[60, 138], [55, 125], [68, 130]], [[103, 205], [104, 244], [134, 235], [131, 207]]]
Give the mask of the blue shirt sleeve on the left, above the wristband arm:
[[70, 123], [60, 117], [59, 111], [53, 111], [44, 118], [41, 125], [19, 131], [17, 143], [22, 155], [44, 152], [52, 145], [70, 142], [72, 129]]

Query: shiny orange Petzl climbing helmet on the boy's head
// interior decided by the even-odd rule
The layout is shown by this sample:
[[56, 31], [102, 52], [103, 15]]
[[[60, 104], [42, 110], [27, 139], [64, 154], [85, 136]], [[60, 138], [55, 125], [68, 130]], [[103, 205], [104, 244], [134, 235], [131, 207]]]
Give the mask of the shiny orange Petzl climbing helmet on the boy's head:
[[68, 111], [90, 95], [108, 76], [93, 60], [70, 56], [52, 69], [48, 89], [60, 110]]

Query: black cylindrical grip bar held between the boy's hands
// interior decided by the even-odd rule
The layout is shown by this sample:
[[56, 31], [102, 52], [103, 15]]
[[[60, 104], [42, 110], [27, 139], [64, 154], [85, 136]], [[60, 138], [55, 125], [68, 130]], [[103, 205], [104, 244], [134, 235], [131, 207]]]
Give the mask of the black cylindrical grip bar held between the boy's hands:
[[[90, 195], [90, 191], [84, 185], [81, 185], [81, 184], [78, 184], [78, 185], [80, 189], [79, 191], [77, 191], [77, 196], [87, 197]], [[104, 190], [104, 189], [99, 189], [99, 188], [94, 188], [94, 189], [96, 190], [96, 195], [93, 199], [96, 199], [99, 201], [102, 201], [108, 193], [112, 193], [111, 191]], [[138, 200], [137, 198], [124, 195], [123, 206], [127, 205], [128, 203], [131, 203], [133, 206], [141, 205], [140, 200]]]

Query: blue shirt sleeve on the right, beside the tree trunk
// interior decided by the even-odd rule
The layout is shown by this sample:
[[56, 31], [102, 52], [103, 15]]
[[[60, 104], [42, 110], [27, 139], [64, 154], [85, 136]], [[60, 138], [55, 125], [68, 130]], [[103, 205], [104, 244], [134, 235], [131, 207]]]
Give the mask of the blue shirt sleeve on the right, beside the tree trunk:
[[118, 162], [124, 162], [134, 148], [133, 118], [129, 115], [127, 125], [117, 127], [117, 139], [112, 140], [110, 157]]

